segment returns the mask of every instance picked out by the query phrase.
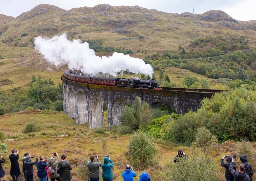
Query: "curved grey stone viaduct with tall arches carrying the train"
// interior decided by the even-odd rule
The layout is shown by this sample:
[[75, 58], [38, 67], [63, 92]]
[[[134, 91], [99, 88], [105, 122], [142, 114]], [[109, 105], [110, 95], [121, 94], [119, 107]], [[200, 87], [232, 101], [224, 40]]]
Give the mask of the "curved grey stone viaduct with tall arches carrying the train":
[[161, 103], [170, 105], [178, 114], [196, 111], [203, 98], [211, 98], [220, 90], [185, 89], [164, 87], [163, 90], [137, 89], [80, 83], [61, 77], [63, 85], [63, 106], [69, 118], [76, 118], [76, 124], [89, 123], [90, 128], [104, 125], [102, 101], [108, 109], [109, 125], [120, 125], [124, 105], [138, 96], [152, 107]]

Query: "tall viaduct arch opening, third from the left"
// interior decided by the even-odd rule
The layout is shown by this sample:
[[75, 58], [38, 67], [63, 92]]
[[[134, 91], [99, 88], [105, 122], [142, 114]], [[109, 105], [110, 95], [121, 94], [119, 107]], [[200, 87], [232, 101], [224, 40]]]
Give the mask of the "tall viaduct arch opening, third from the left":
[[77, 116], [76, 124], [85, 124], [88, 123], [88, 105], [87, 98], [84, 95], [83, 91], [79, 91], [76, 96], [76, 107], [77, 107]]

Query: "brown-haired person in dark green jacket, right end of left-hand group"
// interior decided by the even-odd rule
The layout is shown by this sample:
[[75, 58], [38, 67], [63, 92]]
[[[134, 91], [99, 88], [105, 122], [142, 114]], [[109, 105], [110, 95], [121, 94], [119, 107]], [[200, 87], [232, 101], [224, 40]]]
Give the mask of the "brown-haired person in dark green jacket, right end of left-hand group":
[[62, 154], [60, 163], [58, 163], [58, 168], [62, 167], [62, 173], [60, 174], [60, 180], [61, 181], [72, 181], [71, 172], [72, 167], [68, 161], [66, 161], [67, 155]]

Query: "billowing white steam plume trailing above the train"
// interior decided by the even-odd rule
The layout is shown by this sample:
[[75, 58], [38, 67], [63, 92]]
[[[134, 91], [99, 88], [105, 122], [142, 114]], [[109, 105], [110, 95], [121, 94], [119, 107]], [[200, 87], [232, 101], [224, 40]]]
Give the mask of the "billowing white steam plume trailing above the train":
[[143, 73], [149, 76], [153, 73], [153, 68], [139, 58], [116, 52], [109, 57], [99, 57], [94, 50], [89, 48], [87, 42], [69, 41], [66, 34], [52, 38], [38, 36], [35, 39], [35, 49], [56, 67], [67, 63], [69, 69], [81, 69], [82, 72], [90, 75], [102, 72], [116, 76], [117, 72], [126, 69], [133, 73]]

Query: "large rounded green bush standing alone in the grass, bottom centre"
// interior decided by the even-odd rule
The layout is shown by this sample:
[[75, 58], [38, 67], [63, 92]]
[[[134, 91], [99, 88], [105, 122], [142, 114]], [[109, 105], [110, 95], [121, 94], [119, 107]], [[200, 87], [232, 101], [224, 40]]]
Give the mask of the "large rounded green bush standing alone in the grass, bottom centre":
[[138, 170], [145, 170], [157, 165], [156, 147], [153, 139], [143, 132], [135, 132], [127, 147], [126, 156], [129, 163]]

